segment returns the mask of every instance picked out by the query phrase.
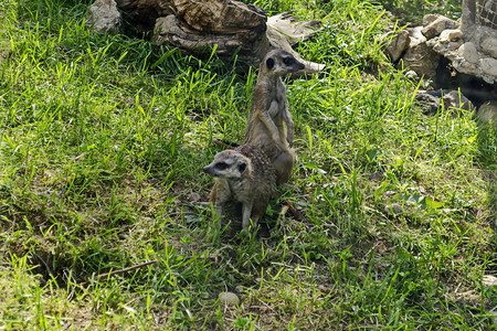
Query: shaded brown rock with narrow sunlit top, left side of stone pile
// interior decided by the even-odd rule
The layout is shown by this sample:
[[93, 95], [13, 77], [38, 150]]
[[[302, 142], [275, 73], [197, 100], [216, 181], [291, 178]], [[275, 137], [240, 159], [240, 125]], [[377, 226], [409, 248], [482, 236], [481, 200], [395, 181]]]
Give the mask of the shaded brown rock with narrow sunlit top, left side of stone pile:
[[420, 33], [421, 29], [416, 26], [410, 31], [411, 45], [405, 51], [400, 66], [409, 67], [425, 78], [433, 78], [436, 75], [440, 55], [426, 45], [426, 39]]

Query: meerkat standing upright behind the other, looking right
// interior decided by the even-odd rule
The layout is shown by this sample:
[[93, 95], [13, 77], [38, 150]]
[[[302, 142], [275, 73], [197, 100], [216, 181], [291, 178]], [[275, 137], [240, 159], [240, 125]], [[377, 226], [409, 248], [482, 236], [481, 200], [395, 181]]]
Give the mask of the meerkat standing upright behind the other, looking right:
[[252, 96], [245, 143], [258, 147], [271, 159], [276, 170], [277, 184], [288, 181], [295, 158], [292, 149], [294, 121], [282, 77], [304, 67], [288, 52], [269, 51], [261, 63]]

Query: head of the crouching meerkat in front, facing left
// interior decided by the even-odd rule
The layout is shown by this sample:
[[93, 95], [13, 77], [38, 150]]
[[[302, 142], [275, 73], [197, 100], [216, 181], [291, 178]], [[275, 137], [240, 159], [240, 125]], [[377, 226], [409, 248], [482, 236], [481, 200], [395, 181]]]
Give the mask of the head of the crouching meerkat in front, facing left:
[[251, 160], [234, 150], [224, 150], [215, 154], [211, 164], [203, 168], [203, 172], [219, 178], [242, 178], [252, 175]]

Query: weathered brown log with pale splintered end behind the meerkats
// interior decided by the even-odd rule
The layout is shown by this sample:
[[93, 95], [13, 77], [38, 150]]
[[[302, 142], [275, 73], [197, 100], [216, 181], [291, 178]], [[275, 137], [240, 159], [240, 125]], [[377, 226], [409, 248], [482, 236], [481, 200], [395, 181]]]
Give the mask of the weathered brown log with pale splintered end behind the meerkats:
[[304, 63], [307, 74], [325, 68], [292, 49], [319, 31], [317, 21], [295, 23], [297, 19], [288, 12], [267, 19], [261, 8], [234, 0], [170, 2], [173, 13], [155, 21], [152, 41], [159, 45], [170, 44], [197, 56], [210, 55], [215, 47], [221, 60], [230, 61], [236, 54], [240, 64], [252, 66], [258, 66], [268, 51], [283, 49]]

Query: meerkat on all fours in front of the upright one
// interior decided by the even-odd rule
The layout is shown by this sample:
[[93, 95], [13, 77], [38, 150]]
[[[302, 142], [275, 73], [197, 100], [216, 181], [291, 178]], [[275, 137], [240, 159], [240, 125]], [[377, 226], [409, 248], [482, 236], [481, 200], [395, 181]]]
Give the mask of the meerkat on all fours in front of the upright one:
[[266, 212], [276, 186], [276, 173], [269, 159], [252, 145], [215, 154], [212, 163], [203, 171], [215, 178], [210, 201], [216, 209], [221, 228], [224, 204], [229, 201], [242, 203], [242, 226], [248, 231]]

